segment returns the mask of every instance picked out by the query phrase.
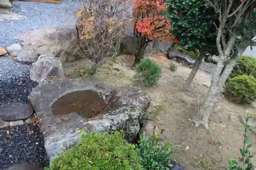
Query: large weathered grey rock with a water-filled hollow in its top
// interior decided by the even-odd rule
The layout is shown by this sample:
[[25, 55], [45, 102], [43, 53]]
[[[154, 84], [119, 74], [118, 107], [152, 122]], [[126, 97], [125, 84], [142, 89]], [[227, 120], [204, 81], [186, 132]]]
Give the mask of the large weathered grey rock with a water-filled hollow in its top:
[[113, 133], [123, 129], [131, 141], [138, 134], [139, 119], [151, 101], [140, 90], [82, 78], [45, 80], [31, 91], [29, 99], [50, 158], [76, 144], [81, 135], [78, 130], [84, 127], [87, 132]]

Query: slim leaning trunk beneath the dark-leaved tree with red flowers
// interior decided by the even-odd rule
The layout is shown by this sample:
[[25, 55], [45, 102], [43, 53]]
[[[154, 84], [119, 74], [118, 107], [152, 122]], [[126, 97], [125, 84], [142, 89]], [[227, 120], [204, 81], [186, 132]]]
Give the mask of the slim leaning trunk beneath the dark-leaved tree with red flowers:
[[195, 66], [192, 68], [192, 70], [190, 71], [190, 74], [188, 75], [187, 77], [187, 80], [185, 82], [185, 84], [183, 85], [183, 89], [187, 89], [188, 86], [190, 86], [190, 84], [192, 83], [192, 81], [194, 80], [196, 74], [197, 74], [197, 71], [202, 63], [202, 60], [204, 58], [205, 54], [204, 53], [201, 53], [199, 55], [199, 58], [197, 59], [196, 63], [195, 63]]

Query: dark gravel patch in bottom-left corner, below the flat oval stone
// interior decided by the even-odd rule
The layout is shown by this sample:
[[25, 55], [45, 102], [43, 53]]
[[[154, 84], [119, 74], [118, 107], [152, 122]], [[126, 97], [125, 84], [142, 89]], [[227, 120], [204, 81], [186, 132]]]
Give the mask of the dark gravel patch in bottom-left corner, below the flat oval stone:
[[0, 128], [0, 170], [18, 162], [49, 166], [44, 137], [37, 125]]

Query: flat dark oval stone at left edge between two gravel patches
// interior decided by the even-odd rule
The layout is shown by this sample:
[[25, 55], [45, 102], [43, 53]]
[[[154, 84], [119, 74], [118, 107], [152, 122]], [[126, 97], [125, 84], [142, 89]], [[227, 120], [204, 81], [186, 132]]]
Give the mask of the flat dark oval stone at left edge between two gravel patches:
[[5, 121], [24, 120], [33, 113], [34, 109], [30, 104], [10, 103], [0, 106], [0, 119]]

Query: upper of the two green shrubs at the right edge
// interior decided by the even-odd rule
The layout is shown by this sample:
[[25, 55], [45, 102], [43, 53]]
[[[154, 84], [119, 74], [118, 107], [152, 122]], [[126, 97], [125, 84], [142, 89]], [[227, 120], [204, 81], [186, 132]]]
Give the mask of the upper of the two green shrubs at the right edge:
[[243, 56], [234, 66], [229, 78], [241, 75], [250, 75], [256, 78], [256, 58], [252, 56]]

